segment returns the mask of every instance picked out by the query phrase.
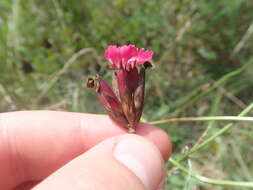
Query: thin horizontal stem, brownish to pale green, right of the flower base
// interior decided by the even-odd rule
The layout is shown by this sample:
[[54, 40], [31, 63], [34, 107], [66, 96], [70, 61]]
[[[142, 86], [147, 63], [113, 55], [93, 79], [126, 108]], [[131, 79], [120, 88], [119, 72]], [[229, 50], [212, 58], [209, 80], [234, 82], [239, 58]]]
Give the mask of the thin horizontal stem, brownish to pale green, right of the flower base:
[[159, 125], [159, 124], [164, 124], [164, 123], [191, 122], [191, 121], [249, 121], [249, 122], [253, 122], [253, 117], [241, 117], [241, 116], [181, 117], [181, 118], [152, 121], [152, 122], [149, 122], [149, 124]]

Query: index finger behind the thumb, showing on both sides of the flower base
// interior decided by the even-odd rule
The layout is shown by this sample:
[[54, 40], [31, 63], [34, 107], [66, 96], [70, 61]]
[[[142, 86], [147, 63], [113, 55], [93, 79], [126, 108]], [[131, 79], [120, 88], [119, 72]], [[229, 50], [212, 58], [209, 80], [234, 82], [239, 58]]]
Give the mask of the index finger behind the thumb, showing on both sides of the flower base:
[[[171, 146], [162, 130], [144, 125], [137, 132], [154, 142], [167, 159]], [[0, 187], [11, 189], [26, 181], [39, 181], [102, 140], [125, 133], [102, 115], [52, 111], [1, 114]]]

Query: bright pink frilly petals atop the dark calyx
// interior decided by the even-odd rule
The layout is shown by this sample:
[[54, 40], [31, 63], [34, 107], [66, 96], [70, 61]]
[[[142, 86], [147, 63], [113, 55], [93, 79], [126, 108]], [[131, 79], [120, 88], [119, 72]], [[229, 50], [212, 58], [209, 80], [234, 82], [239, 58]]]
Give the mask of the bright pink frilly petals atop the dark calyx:
[[105, 58], [111, 63], [114, 69], [134, 68], [136, 64], [150, 62], [153, 57], [152, 51], [138, 50], [134, 45], [124, 45], [117, 47], [110, 45], [105, 51]]

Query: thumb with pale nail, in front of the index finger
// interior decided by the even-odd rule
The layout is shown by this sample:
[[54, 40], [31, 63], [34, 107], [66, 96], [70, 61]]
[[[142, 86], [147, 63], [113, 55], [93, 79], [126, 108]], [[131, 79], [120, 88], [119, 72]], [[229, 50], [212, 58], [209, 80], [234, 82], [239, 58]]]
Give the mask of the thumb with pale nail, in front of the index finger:
[[137, 135], [107, 139], [70, 161], [34, 190], [156, 190], [164, 161], [154, 144]]

